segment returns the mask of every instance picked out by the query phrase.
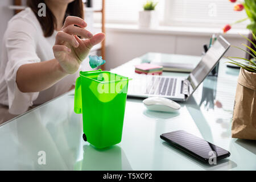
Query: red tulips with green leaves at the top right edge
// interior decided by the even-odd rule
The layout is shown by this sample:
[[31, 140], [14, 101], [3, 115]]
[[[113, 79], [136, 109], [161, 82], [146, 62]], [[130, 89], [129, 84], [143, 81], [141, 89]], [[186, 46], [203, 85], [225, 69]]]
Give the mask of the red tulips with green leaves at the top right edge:
[[[230, 2], [232, 3], [236, 3], [237, 0], [229, 0]], [[246, 14], [247, 14], [247, 17], [246, 18], [243, 18], [241, 20], [238, 20], [234, 23], [231, 23], [231, 24], [226, 24], [226, 26], [224, 28], [222, 28], [223, 32], [227, 32], [230, 30], [230, 28], [232, 28], [233, 24], [236, 24], [236, 23], [240, 23], [240, 22], [243, 22], [245, 20], [250, 20], [250, 24], [247, 25], [247, 28], [249, 30], [251, 30], [254, 35], [256, 34], [256, 0], [244, 0], [244, 2], [242, 3], [236, 3], [234, 5], [234, 11], [243, 11], [245, 10]], [[253, 35], [250, 34], [249, 35], [249, 40], [251, 40], [251, 42], [253, 42], [254, 44], [256, 44], [256, 39], [253, 38]], [[253, 44], [251, 44], [250, 41], [247, 42], [247, 45], [252, 48], [253, 47]], [[247, 48], [247, 51], [249, 53], [253, 53], [251, 52], [251, 50], [249, 48]], [[249, 53], [246, 52], [246, 59], [250, 60], [251, 58], [253, 58]]]

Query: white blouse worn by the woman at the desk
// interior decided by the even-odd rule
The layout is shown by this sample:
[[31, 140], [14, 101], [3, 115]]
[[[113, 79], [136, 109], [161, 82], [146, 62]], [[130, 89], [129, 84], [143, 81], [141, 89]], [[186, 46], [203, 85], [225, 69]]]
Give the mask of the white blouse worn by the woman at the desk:
[[67, 92], [75, 85], [79, 71], [68, 75], [42, 92], [23, 93], [16, 84], [20, 65], [54, 59], [52, 47], [56, 31], [45, 38], [38, 19], [30, 8], [16, 14], [3, 36], [0, 60], [0, 104], [9, 106], [11, 114], [22, 114], [32, 105], [43, 104]]

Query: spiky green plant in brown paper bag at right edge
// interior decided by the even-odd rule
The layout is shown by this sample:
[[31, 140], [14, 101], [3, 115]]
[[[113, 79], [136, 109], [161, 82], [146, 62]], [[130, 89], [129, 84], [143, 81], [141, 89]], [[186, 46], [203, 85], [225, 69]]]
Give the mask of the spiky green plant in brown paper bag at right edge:
[[[251, 35], [256, 40], [253, 32]], [[245, 51], [253, 58], [226, 57], [229, 59], [228, 63], [241, 67], [234, 101], [232, 137], [256, 140], [256, 44], [246, 36], [243, 37], [253, 45], [251, 48], [242, 44], [251, 52], [240, 47], [234, 47]], [[233, 58], [241, 59], [241, 61], [234, 61]]]

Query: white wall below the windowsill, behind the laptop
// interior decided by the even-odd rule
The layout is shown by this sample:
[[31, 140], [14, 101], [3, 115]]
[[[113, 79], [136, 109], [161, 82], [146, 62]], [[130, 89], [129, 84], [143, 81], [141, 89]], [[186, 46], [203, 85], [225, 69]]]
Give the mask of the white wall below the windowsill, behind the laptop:
[[[246, 43], [240, 35], [224, 37], [235, 46]], [[106, 69], [112, 69], [147, 52], [176, 53], [200, 56], [203, 44], [209, 44], [210, 34], [157, 34], [156, 32], [123, 31], [106, 28]], [[230, 47], [226, 56], [241, 56], [245, 53]]]

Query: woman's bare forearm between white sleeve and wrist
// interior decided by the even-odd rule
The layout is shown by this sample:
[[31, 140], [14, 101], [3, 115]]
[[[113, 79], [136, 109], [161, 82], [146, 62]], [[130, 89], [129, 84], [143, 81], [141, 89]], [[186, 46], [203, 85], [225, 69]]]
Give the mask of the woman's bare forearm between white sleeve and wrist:
[[16, 73], [16, 84], [21, 92], [40, 92], [67, 76], [56, 59], [24, 64]]

